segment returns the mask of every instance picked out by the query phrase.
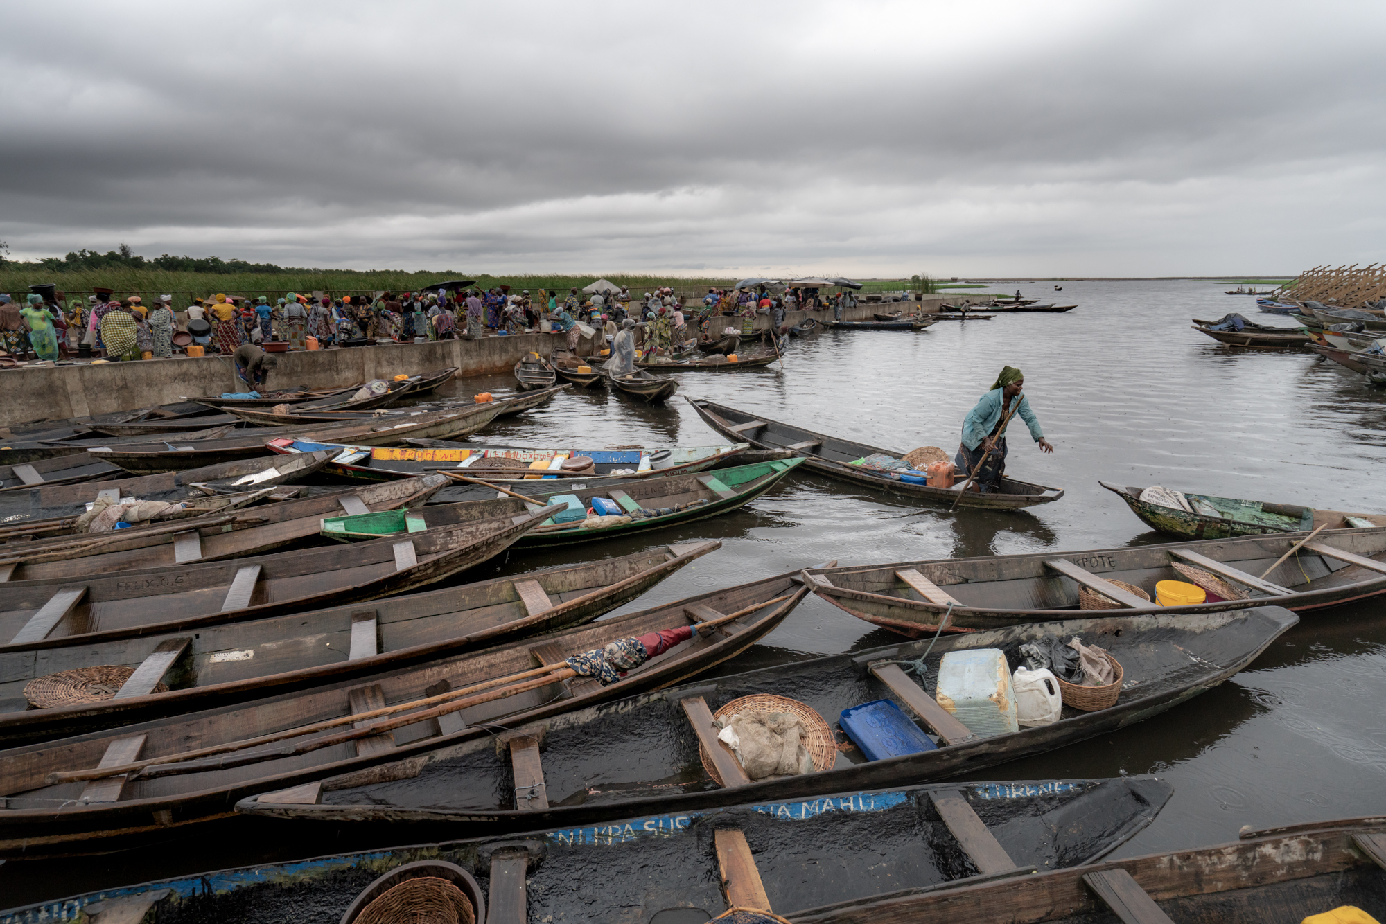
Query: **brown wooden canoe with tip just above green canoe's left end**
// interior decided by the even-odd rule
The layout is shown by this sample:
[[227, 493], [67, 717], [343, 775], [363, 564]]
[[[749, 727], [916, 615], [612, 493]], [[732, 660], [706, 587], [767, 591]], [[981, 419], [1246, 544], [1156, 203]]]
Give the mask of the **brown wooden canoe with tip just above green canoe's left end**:
[[179, 519], [162, 529], [146, 529], [129, 536], [129, 529], [118, 529], [0, 546], [0, 567], [11, 565], [10, 580], [67, 578], [79, 582], [89, 575], [116, 571], [179, 568], [201, 561], [259, 556], [305, 540], [319, 544], [323, 517], [426, 504], [449, 483], [452, 481], [446, 477], [434, 474], [286, 500], [234, 514]]

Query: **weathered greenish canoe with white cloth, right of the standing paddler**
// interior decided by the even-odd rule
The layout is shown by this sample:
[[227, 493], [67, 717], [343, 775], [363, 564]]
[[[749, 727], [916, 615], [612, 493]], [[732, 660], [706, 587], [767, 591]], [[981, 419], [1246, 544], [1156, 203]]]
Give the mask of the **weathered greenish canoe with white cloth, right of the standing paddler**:
[[[1123, 488], [1099, 481], [1099, 485], [1127, 503], [1137, 517], [1152, 529], [1179, 539], [1231, 539], [1256, 536], [1264, 532], [1308, 532], [1318, 526], [1353, 529], [1357, 526], [1386, 526], [1386, 514], [1347, 514], [1337, 510], [1315, 510], [1297, 504], [1274, 504], [1263, 500], [1239, 500], [1214, 495], [1191, 495], [1189, 506], [1198, 513], [1163, 507], [1141, 500], [1141, 488]], [[1361, 522], [1347, 522], [1349, 518]]]

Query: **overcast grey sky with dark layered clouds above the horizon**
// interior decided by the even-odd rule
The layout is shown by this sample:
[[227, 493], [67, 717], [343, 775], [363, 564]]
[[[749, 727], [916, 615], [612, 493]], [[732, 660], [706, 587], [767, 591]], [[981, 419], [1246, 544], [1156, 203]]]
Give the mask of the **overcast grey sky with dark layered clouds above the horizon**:
[[292, 266], [1386, 258], [1386, 4], [0, 4], [0, 240]]

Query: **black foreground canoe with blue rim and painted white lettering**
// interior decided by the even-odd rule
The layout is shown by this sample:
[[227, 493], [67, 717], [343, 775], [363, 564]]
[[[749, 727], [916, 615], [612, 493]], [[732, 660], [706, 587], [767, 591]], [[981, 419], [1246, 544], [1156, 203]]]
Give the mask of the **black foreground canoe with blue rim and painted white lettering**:
[[[830, 902], [973, 885], [994, 878], [991, 863], [1002, 858], [1010, 876], [1095, 863], [1143, 830], [1171, 794], [1168, 783], [1137, 776], [743, 802], [686, 816], [656, 813], [602, 827], [553, 828], [520, 841], [471, 838], [262, 862], [46, 900], [0, 912], [0, 921], [75, 921], [83, 912], [90, 918], [116, 909], [133, 914], [136, 907], [154, 909], [155, 920], [195, 916], [222, 924], [279, 924], [304, 907], [351, 920], [351, 909], [365, 906], [363, 896], [378, 895], [383, 885], [410, 876], [446, 876], [452, 869], [473, 882], [480, 877], [496, 884], [489, 894], [478, 888], [471, 899], [478, 921], [486, 914], [491, 921], [506, 920], [507, 909], [527, 909], [523, 920], [564, 924], [705, 921], [729, 905], [723, 877], [732, 896], [758, 884], [766, 905], [791, 914]], [[169, 869], [155, 858], [144, 863], [144, 876]], [[990, 874], [970, 876], [977, 867]], [[525, 874], [506, 876], [507, 869]], [[216, 888], [207, 889], [205, 882]]]

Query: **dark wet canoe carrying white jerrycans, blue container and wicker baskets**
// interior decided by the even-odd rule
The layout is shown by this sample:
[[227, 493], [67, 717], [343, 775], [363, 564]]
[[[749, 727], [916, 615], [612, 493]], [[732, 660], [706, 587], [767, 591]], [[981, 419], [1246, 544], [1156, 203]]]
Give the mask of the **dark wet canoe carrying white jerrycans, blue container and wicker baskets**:
[[[545, 785], [535, 799], [523, 784], [523, 767], [517, 785], [509, 754], [498, 751], [493, 741], [462, 741], [434, 748], [407, 766], [381, 767], [376, 779], [328, 776], [312, 798], [259, 797], [243, 801], [237, 810], [370, 824], [373, 830], [377, 823], [388, 823], [394, 837], [417, 839], [442, 830], [439, 823], [500, 833], [929, 783], [1110, 734], [1171, 709], [1235, 675], [1296, 622], [1295, 614], [1279, 607], [1193, 616], [1063, 619], [945, 636], [933, 651], [929, 640], [814, 658], [665, 687], [561, 716], [507, 723], [514, 738], [543, 745], [536, 772], [542, 772]], [[1121, 664], [1127, 680], [1114, 705], [1094, 712], [1066, 705], [1052, 725], [988, 737], [969, 731], [934, 701], [931, 684], [920, 686], [898, 664], [923, 658], [933, 677], [945, 652], [979, 648], [999, 648], [1010, 664], [1017, 664], [1019, 647], [1046, 634], [1078, 636], [1106, 648]], [[816, 712], [808, 725], [821, 730], [811, 743], [816, 744], [815, 767], [822, 769], [753, 781], [718, 741], [714, 711], [743, 697], [766, 694]], [[845, 738], [840, 734], [841, 712], [880, 700], [909, 709], [900, 711], [902, 723], [911, 723], [905, 716], [918, 715], [922, 729], [916, 730], [930, 737], [918, 736], [918, 744], [905, 744], [904, 733], [897, 733], [897, 756], [877, 761], [855, 748], [839, 748]], [[937, 745], [930, 748], [933, 738]]]

